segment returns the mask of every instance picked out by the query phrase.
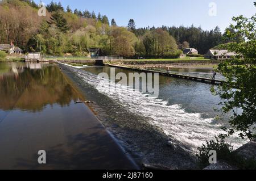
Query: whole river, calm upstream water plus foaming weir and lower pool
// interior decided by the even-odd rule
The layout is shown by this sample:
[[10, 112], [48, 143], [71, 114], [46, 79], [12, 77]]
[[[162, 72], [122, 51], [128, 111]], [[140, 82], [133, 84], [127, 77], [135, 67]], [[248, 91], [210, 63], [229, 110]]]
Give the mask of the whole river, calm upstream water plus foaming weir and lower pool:
[[[221, 127], [227, 125], [226, 117], [229, 116], [224, 115], [223, 120], [214, 119], [220, 116], [213, 109], [220, 108], [220, 98], [210, 92], [212, 85], [159, 76], [159, 96], [152, 98], [150, 94], [135, 90], [134, 87], [119, 85], [118, 81], [109, 84], [109, 79], [101, 79], [105, 86], [99, 86], [98, 74], [110, 75], [110, 70], [109, 67], [95, 66], [74, 68], [62, 64], [1, 63], [0, 143], [4, 146], [0, 153], [5, 166], [16, 164], [16, 167], [23, 168], [26, 160], [18, 158], [26, 158], [31, 163], [36, 156], [30, 154], [42, 149], [42, 143], [55, 153], [52, 157], [56, 157], [55, 146], [58, 153], [65, 153], [60, 157], [65, 162], [54, 162], [51, 165], [53, 168], [66, 168], [63, 165], [79, 161], [80, 158], [73, 155], [77, 155], [77, 152], [82, 157], [85, 155], [79, 150], [79, 145], [86, 149], [84, 142], [88, 136], [81, 135], [91, 130], [84, 119], [90, 121], [93, 117], [84, 115], [82, 110], [88, 112], [88, 107], [77, 107], [75, 103], [86, 98], [94, 102], [88, 104], [89, 108], [135, 162], [171, 169], [197, 168], [197, 147], [223, 133]], [[115, 74], [130, 73], [130, 70], [124, 69], [114, 71]], [[195, 72], [197, 75], [205, 74], [200, 70], [193, 70]], [[207, 73], [210, 74], [209, 71]], [[143, 83], [142, 80], [140, 83]], [[109, 85], [112, 91], [109, 91]], [[50, 131], [45, 132], [45, 129]], [[90, 140], [97, 149], [90, 148], [88, 153], [100, 151], [97, 145], [102, 144], [99, 143], [102, 135], [108, 137], [102, 133]], [[70, 144], [70, 137], [76, 138], [72, 140], [72, 144], [78, 144], [75, 149]], [[228, 141], [234, 148], [246, 143], [237, 137]], [[104, 142], [107, 144], [111, 141], [107, 139]], [[120, 150], [114, 147], [113, 150], [117, 150], [114, 152], [118, 153]], [[29, 151], [29, 148], [34, 152]], [[23, 155], [20, 150], [26, 154]], [[106, 151], [104, 154], [110, 153]], [[66, 157], [72, 159], [67, 161]], [[113, 159], [113, 156], [109, 155], [109, 158]], [[21, 163], [17, 163], [17, 159]], [[115, 163], [118, 165], [119, 162]], [[71, 166], [83, 168], [81, 164]], [[35, 168], [32, 163], [29, 166]], [[97, 164], [93, 166], [97, 167]]]

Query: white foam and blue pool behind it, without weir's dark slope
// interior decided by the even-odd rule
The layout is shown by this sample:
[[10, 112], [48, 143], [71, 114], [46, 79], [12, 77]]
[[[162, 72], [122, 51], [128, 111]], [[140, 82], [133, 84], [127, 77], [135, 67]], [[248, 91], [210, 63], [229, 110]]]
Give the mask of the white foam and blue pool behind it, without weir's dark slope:
[[[97, 75], [105, 72], [110, 76], [110, 68], [89, 66], [84, 69], [71, 67], [69, 69], [80, 78], [80, 81], [88, 83], [100, 94], [114, 100], [114, 104], [121, 105], [134, 115], [144, 117], [148, 123], [162, 129], [168, 137], [186, 145], [188, 150], [196, 152], [197, 147], [205, 141], [224, 133], [221, 127], [227, 125], [226, 121], [214, 119], [220, 114], [214, 111], [214, 108], [220, 108], [218, 106], [220, 98], [213, 96], [210, 92], [212, 85], [160, 76], [159, 96], [151, 98], [148, 94], [142, 94], [133, 87], [127, 89], [127, 86], [109, 83], [108, 79], [105, 79], [103, 83], [105, 86], [102, 86]], [[126, 73], [128, 77], [128, 70], [115, 69], [116, 74], [119, 72]], [[199, 76], [205, 74], [200, 71], [196, 73]], [[209, 74], [209, 71], [207, 73]], [[227, 116], [224, 115], [224, 117]], [[233, 137], [230, 141], [235, 148], [243, 143], [237, 137]]]

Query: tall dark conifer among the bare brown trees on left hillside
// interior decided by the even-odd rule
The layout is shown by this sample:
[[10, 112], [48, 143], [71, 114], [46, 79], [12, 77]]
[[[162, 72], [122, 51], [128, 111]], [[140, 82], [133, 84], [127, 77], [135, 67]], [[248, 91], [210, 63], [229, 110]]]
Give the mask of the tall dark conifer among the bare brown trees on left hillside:
[[67, 20], [60, 11], [56, 11], [52, 14], [49, 24], [55, 24], [62, 32], [67, 32], [69, 30]]

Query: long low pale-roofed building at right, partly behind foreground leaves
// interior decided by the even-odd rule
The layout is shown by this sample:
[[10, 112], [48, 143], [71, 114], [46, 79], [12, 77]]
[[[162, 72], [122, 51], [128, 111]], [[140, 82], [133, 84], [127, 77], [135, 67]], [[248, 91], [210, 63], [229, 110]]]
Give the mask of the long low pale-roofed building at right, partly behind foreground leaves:
[[207, 54], [204, 55], [204, 58], [214, 59], [214, 60], [221, 60], [221, 59], [228, 59], [232, 56], [236, 56], [237, 53], [235, 52], [228, 52], [228, 50], [218, 50], [218, 49], [210, 49]]

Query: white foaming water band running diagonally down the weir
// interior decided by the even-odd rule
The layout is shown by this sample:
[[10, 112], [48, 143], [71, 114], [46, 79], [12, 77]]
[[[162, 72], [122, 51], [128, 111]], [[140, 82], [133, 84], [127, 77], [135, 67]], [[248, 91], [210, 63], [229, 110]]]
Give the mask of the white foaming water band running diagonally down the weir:
[[[168, 105], [168, 100], [151, 98], [148, 94], [142, 94], [138, 90], [110, 83], [106, 79], [100, 80], [97, 75], [85, 70], [71, 69], [101, 94], [109, 96], [127, 110], [147, 117], [146, 120], [150, 124], [161, 128], [172, 140], [186, 145], [184, 149], [194, 152], [205, 141], [224, 133], [220, 124], [212, 123], [213, 118], [204, 119], [200, 113], [185, 112], [180, 105]], [[246, 142], [237, 137], [232, 137], [231, 141], [234, 148], [238, 148]]]

